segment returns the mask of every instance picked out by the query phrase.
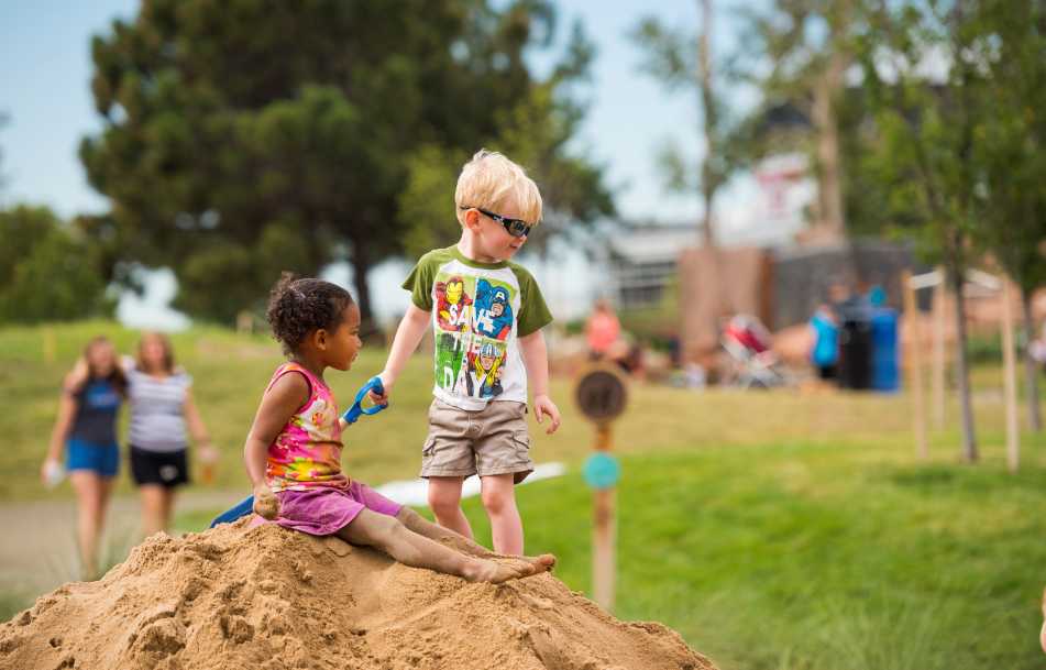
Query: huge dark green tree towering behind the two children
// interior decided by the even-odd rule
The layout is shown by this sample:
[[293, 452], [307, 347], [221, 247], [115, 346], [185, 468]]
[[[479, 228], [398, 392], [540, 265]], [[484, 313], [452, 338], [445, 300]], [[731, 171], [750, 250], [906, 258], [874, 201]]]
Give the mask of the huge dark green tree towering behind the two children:
[[419, 153], [499, 136], [536, 86], [525, 51], [552, 45], [549, 0], [493, 4], [151, 0], [114, 22], [92, 43], [106, 127], [80, 155], [119, 261], [173, 266], [177, 306], [229, 321], [280, 270], [344, 259], [368, 319]]

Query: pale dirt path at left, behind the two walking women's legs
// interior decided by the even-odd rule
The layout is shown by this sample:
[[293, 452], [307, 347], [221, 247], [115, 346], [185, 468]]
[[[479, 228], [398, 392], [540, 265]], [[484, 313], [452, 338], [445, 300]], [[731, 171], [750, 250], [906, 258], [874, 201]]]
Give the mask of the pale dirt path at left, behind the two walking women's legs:
[[[176, 513], [230, 507], [242, 491], [189, 491], [178, 496]], [[101, 543], [101, 564], [121, 562], [139, 538], [139, 503], [121, 496], [109, 508]], [[79, 579], [74, 501], [0, 504], [0, 593], [32, 597]]]

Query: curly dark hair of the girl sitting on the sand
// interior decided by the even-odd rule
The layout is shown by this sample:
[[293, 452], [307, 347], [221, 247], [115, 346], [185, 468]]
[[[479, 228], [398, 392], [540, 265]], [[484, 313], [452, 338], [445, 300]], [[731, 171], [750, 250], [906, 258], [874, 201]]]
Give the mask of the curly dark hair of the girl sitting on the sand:
[[313, 330], [334, 330], [341, 323], [345, 307], [353, 304], [348, 290], [311, 277], [299, 278], [285, 272], [268, 296], [265, 318], [273, 327], [273, 337], [291, 354]]

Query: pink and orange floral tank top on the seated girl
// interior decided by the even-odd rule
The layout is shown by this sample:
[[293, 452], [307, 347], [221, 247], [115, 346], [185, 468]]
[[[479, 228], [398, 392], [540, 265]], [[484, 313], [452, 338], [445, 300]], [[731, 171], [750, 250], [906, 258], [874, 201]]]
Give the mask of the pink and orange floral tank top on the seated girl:
[[265, 479], [273, 492], [309, 491], [320, 486], [344, 488], [349, 477], [341, 471], [341, 426], [334, 396], [319, 377], [299, 363], [284, 363], [265, 388], [288, 373], [309, 382], [309, 399], [298, 408], [268, 446]]

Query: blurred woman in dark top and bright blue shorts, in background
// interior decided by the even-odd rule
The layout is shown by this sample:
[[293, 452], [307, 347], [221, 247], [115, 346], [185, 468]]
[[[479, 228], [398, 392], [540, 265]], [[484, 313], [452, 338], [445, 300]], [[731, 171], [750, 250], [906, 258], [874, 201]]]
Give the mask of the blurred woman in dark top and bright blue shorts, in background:
[[41, 479], [47, 485], [57, 483], [64, 450], [65, 470], [76, 492], [80, 565], [85, 579], [95, 579], [98, 541], [120, 470], [117, 415], [126, 397], [128, 382], [112, 342], [103, 337], [88, 342], [82, 361], [82, 372], [74, 370], [66, 376]]

